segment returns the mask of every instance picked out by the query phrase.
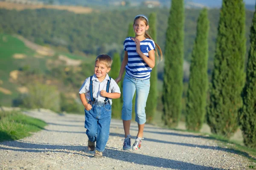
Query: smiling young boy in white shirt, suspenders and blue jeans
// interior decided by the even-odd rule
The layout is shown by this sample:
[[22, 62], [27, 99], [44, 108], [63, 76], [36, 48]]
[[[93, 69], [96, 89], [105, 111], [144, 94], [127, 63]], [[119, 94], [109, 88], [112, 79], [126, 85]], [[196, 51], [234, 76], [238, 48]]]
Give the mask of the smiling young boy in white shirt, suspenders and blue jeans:
[[[115, 80], [108, 76], [112, 59], [107, 54], [96, 57], [94, 75], [85, 79], [79, 95], [84, 105], [85, 123], [88, 136], [88, 150], [95, 150], [95, 158], [101, 158], [108, 142], [111, 122], [112, 99], [121, 96]], [[89, 102], [86, 101], [88, 99]]]

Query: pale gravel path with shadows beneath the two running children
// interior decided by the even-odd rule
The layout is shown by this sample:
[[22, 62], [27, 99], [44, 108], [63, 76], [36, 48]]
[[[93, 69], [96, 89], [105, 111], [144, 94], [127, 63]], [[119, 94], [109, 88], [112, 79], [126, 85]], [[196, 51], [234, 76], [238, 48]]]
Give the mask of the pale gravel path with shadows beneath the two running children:
[[[122, 121], [112, 119], [110, 137], [102, 159], [87, 150], [84, 116], [50, 111], [26, 114], [48, 123], [44, 130], [25, 139], [0, 142], [0, 169], [3, 170], [247, 170], [256, 163], [219, 147], [217, 142], [194, 133], [145, 125], [142, 149], [122, 150]], [[131, 124], [131, 135], [137, 124]], [[250, 169], [251, 170], [251, 169]]]

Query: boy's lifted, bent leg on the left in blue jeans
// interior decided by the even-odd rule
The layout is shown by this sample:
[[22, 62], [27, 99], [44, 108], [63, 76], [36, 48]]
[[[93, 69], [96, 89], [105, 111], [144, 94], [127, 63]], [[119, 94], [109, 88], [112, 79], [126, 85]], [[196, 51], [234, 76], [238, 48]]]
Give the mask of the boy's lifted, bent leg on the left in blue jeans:
[[[90, 111], [85, 110], [84, 128], [86, 128], [86, 134], [90, 142], [95, 142], [97, 137], [97, 122], [96, 119], [96, 106], [92, 105]], [[89, 143], [89, 142], [88, 142]]]

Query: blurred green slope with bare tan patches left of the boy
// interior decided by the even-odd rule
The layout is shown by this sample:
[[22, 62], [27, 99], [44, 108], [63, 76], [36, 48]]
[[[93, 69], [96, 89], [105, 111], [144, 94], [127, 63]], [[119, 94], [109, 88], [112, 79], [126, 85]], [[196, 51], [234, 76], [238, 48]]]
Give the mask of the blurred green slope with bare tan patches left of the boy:
[[37, 45], [21, 36], [0, 34], [0, 51], [0, 105], [4, 106], [18, 105], [35, 82], [57, 86], [68, 98], [76, 99], [81, 83], [93, 71], [82, 71], [81, 66], [94, 57]]

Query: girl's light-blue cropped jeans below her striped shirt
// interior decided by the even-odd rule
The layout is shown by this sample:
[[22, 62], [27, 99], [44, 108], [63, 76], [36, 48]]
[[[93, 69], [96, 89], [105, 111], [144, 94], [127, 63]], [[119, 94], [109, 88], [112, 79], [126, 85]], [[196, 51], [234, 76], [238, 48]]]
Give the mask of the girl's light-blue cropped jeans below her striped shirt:
[[132, 99], [136, 91], [135, 99], [135, 121], [140, 125], [146, 122], [145, 107], [150, 88], [150, 80], [140, 80], [125, 74], [123, 81], [123, 106], [122, 119], [131, 120]]

